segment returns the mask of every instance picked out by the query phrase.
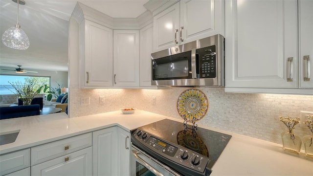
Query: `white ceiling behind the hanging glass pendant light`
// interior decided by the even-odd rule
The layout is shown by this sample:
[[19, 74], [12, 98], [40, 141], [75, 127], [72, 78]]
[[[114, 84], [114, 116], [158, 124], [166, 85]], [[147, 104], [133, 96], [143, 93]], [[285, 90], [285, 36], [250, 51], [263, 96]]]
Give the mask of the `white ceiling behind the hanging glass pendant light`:
[[[0, 66], [67, 71], [68, 20], [77, 0], [25, 0], [19, 24], [29, 38], [26, 50], [0, 42]], [[136, 18], [148, 0], [78, 0], [113, 18]], [[0, 35], [17, 23], [17, 3], [0, 0]]]

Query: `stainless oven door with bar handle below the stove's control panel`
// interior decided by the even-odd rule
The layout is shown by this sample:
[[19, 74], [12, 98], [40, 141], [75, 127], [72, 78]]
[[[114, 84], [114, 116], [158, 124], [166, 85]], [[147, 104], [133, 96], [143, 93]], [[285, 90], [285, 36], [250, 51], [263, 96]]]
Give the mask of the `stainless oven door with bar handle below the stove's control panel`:
[[131, 152], [131, 176], [181, 176], [135, 146]]

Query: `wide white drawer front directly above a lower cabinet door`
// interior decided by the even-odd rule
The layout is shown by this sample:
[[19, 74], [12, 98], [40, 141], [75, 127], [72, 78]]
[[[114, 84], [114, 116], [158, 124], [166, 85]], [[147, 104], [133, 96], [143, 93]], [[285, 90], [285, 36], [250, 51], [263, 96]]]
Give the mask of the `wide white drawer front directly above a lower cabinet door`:
[[86, 133], [31, 148], [31, 165], [69, 154], [92, 145], [92, 133]]

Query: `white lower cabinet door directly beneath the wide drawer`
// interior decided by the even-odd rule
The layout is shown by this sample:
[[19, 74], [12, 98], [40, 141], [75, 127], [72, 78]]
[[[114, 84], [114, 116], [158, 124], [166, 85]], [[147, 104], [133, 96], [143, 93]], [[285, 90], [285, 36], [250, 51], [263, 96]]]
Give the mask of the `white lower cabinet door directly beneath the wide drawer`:
[[91, 176], [92, 147], [31, 167], [32, 176]]

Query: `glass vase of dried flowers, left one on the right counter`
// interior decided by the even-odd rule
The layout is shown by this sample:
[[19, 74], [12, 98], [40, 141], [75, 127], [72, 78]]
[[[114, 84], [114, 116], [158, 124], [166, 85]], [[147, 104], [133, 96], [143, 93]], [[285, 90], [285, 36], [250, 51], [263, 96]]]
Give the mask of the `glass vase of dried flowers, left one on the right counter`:
[[297, 136], [293, 133], [293, 129], [294, 126], [300, 122], [300, 118], [297, 117], [292, 119], [290, 116], [279, 116], [279, 121], [283, 122], [288, 128], [288, 131], [281, 133], [284, 151], [299, 154], [302, 141], [300, 136]]

